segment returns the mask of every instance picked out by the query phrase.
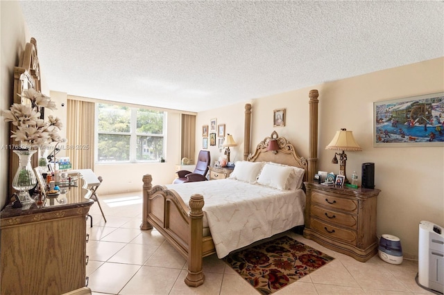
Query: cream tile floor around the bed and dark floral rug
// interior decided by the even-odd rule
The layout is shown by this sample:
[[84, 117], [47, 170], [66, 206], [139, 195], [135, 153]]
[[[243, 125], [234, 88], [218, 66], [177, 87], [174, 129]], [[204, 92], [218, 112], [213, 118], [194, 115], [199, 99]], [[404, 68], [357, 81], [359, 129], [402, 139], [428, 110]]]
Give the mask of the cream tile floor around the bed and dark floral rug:
[[[93, 294], [254, 294], [259, 293], [216, 255], [204, 258], [205, 283], [184, 283], [187, 262], [155, 230], [141, 231], [142, 193], [99, 195], [105, 217], [93, 204], [87, 222], [87, 276]], [[416, 284], [418, 262], [390, 265], [374, 256], [368, 262], [336, 253], [303, 238], [291, 238], [336, 258], [278, 292], [279, 294], [432, 294]]]

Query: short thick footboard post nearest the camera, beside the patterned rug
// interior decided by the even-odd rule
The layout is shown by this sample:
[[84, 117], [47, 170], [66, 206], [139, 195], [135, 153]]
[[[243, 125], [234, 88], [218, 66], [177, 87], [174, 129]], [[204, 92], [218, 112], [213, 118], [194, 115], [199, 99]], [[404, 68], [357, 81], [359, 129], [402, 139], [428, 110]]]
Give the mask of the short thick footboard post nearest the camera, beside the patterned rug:
[[205, 281], [202, 271], [203, 195], [194, 194], [189, 199], [188, 274], [185, 284], [198, 287]]

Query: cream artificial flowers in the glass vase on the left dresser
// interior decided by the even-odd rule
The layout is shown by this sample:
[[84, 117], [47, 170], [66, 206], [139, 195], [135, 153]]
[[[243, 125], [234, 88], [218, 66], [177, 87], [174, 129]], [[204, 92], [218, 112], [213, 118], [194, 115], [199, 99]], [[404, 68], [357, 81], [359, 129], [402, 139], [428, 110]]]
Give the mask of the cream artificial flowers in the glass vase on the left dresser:
[[[17, 93], [18, 94], [18, 93]], [[31, 105], [22, 105], [14, 103], [8, 111], [1, 111], [6, 122], [12, 122], [17, 126], [16, 131], [11, 130], [11, 138], [19, 141], [25, 147], [36, 148], [48, 145], [52, 142], [62, 142], [58, 132], [62, 129], [60, 119], [54, 116], [48, 116], [48, 120], [40, 118], [40, 108], [56, 110], [54, 103], [49, 96], [45, 96], [40, 91], [28, 89], [20, 95], [31, 101]]]

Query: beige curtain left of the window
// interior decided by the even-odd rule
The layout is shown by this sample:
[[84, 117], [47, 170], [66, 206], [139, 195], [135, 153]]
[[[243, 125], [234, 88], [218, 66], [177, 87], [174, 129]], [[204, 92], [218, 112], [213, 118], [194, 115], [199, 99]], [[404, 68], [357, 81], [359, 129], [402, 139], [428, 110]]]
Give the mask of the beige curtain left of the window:
[[67, 145], [70, 148], [67, 156], [73, 169], [94, 171], [94, 118], [94, 102], [68, 99]]

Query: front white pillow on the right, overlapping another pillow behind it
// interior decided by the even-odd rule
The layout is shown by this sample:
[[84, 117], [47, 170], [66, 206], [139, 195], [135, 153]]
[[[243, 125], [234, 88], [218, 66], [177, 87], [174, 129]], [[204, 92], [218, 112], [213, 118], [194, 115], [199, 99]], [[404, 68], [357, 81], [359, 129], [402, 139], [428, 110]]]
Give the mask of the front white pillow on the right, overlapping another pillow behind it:
[[262, 168], [257, 184], [277, 188], [278, 190], [288, 190], [294, 177], [293, 168], [290, 166], [280, 166], [272, 163], [266, 163]]

